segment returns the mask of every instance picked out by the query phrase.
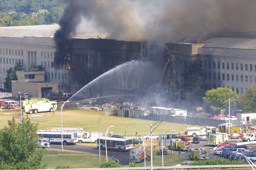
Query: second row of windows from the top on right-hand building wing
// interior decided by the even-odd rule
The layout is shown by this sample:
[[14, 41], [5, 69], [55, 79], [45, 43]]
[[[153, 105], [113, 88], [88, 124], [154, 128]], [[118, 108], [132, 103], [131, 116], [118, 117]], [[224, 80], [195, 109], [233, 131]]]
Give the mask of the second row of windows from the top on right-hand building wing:
[[[216, 76], [218, 76], [218, 77], [216, 77]], [[220, 76], [221, 76], [221, 74], [220, 73], [218, 73], [217, 75], [216, 75], [216, 73], [213, 73], [213, 80], [216, 80], [217, 78], [218, 78], [218, 80], [220, 80], [221, 78], [220, 78]], [[235, 76], [235, 77], [234, 77]], [[245, 81], [245, 82], [256, 82], [256, 76], [254, 76], [254, 79], [253, 79], [253, 76], [252, 75], [238, 75], [238, 74], [236, 74], [236, 75], [234, 75], [234, 74], [227, 74], [227, 76], [226, 76], [226, 74], [222, 74], [222, 80], [224, 81], [224, 80], [227, 80], [227, 81], [239, 81], [239, 78], [240, 78], [240, 81], [241, 82], [243, 82], [243, 81]], [[207, 73], [205, 73], [205, 79], [207, 79]], [[211, 72], [209, 72], [208, 73], [208, 79], [212, 79], [212, 73]]]

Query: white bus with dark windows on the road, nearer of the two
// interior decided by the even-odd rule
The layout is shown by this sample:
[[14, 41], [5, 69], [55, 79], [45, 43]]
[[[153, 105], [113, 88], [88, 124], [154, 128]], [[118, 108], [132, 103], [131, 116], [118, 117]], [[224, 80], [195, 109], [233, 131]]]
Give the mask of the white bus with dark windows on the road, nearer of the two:
[[119, 152], [133, 149], [132, 139], [106, 137], [105, 142], [105, 137], [102, 137], [100, 138], [100, 146], [99, 139], [97, 139], [97, 148], [106, 148], [105, 143], [107, 144], [107, 149], [116, 149]]

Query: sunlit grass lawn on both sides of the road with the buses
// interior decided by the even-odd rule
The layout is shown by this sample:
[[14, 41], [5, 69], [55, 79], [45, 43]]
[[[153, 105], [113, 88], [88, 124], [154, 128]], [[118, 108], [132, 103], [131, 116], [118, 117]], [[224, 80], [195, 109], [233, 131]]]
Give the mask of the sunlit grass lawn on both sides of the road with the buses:
[[[7, 125], [7, 120], [11, 120], [12, 117], [18, 119], [20, 115], [20, 110], [0, 110], [0, 128], [3, 128]], [[48, 113], [37, 113], [37, 114], [28, 114], [32, 122], [39, 124], [40, 130], [46, 130], [46, 127], [61, 127], [61, 111], [56, 110]], [[63, 127], [83, 127], [84, 130], [89, 132], [99, 131], [99, 117], [102, 116], [102, 111], [92, 111], [92, 110], [83, 110], [83, 109], [66, 109], [62, 110], [62, 122]], [[127, 138], [135, 137], [135, 132], [138, 132], [138, 135], [144, 135], [150, 133], [150, 124], [155, 124], [156, 121], [150, 120], [141, 120], [134, 118], [126, 117], [115, 117], [111, 115], [104, 115], [100, 120], [100, 131], [103, 133], [106, 132], [106, 129], [109, 126], [113, 127], [113, 134], [125, 135]], [[162, 123], [155, 130], [154, 134], [165, 134], [167, 131], [175, 130], [176, 132], [184, 132], [187, 125], [185, 124], [172, 124], [172, 123]], [[153, 127], [154, 129], [154, 127]], [[110, 131], [109, 131], [110, 133]], [[147, 155], [150, 155], [150, 140], [145, 141]], [[95, 146], [95, 143], [90, 144], [77, 144], [77, 145], [91, 145]], [[139, 145], [135, 145], [139, 146]], [[156, 154], [157, 149], [157, 140], [153, 140], [153, 165], [161, 166], [162, 156]], [[102, 162], [106, 160], [102, 156]], [[48, 162], [48, 169], [54, 169], [58, 165], [69, 166], [70, 168], [95, 168], [99, 166], [99, 156], [93, 154], [87, 154], [83, 152], [71, 152], [71, 151], [61, 151], [55, 149], [46, 149], [46, 154], [44, 161]], [[164, 156], [165, 165], [176, 165], [183, 162], [184, 159], [181, 159], [175, 154], [171, 154], [168, 151], [168, 155]], [[144, 166], [144, 163], [141, 163]], [[146, 163], [147, 166], [150, 166], [150, 162]]]

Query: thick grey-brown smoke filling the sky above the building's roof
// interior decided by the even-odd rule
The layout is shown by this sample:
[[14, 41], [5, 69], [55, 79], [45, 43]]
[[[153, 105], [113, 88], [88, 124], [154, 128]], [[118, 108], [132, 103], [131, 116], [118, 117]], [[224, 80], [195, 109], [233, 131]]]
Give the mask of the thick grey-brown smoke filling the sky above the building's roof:
[[[67, 33], [108, 32], [109, 39], [177, 43], [211, 32], [256, 31], [256, 0], [58, 0]], [[66, 23], [68, 22], [68, 24]], [[66, 24], [63, 24], [66, 23]]]

